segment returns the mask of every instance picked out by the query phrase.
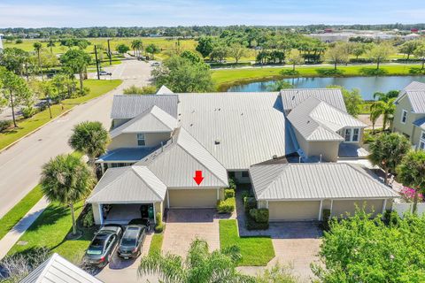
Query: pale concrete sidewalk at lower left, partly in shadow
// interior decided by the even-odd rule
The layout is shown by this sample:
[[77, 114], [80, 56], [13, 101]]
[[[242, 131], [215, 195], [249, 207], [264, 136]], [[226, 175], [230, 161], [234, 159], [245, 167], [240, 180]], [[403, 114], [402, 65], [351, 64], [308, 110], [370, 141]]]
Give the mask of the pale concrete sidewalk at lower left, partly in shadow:
[[35, 219], [38, 218], [48, 204], [48, 201], [42, 197], [42, 199], [38, 203], [35, 203], [35, 206], [13, 226], [11, 231], [4, 235], [3, 239], [0, 240], [0, 260], [3, 259], [9, 250], [12, 249], [13, 245], [19, 241], [20, 236], [27, 231], [29, 226], [34, 223]]

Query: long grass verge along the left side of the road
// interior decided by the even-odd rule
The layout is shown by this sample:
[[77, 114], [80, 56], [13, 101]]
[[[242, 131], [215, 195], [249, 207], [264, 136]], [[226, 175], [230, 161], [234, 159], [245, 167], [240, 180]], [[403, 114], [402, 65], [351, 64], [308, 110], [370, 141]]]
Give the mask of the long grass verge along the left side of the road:
[[[72, 109], [77, 104], [85, 103], [92, 98], [104, 95], [113, 88], [120, 86], [121, 82], [122, 80], [85, 80], [84, 86], [90, 88], [89, 95], [64, 100], [63, 110], [59, 105], [52, 105], [51, 112], [53, 118], [56, 118], [63, 112]], [[12, 142], [19, 140], [19, 138], [31, 133], [36, 128], [49, 121], [50, 114], [48, 109], [35, 114], [29, 119], [19, 119], [17, 122], [18, 128], [11, 128], [10, 130], [0, 134], [0, 149], [4, 149]]]

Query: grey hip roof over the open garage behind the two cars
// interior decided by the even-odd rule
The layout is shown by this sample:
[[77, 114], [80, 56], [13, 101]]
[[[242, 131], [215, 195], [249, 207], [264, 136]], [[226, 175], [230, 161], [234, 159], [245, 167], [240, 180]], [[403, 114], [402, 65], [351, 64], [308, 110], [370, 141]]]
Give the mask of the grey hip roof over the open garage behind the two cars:
[[162, 202], [166, 185], [145, 166], [128, 166], [106, 170], [87, 203]]

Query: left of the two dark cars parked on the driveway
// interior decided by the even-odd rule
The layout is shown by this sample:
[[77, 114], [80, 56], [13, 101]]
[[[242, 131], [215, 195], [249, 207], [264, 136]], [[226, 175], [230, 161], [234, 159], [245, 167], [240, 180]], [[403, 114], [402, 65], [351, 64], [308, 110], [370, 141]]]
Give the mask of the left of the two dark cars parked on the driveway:
[[105, 225], [96, 233], [86, 250], [84, 261], [99, 268], [111, 262], [113, 252], [120, 243], [122, 227], [120, 225]]

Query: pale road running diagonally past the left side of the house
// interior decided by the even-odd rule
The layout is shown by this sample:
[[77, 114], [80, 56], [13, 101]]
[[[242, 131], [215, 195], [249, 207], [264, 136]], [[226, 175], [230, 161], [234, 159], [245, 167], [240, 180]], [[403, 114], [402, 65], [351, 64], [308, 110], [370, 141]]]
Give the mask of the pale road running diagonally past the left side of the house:
[[38, 184], [42, 164], [72, 151], [67, 141], [75, 124], [97, 120], [109, 128], [113, 95], [121, 94], [123, 88], [131, 85], [143, 86], [150, 80], [151, 67], [141, 61], [123, 61], [121, 65], [104, 69], [112, 72], [112, 79], [124, 80], [120, 87], [74, 107], [65, 116], [0, 153], [0, 218]]

